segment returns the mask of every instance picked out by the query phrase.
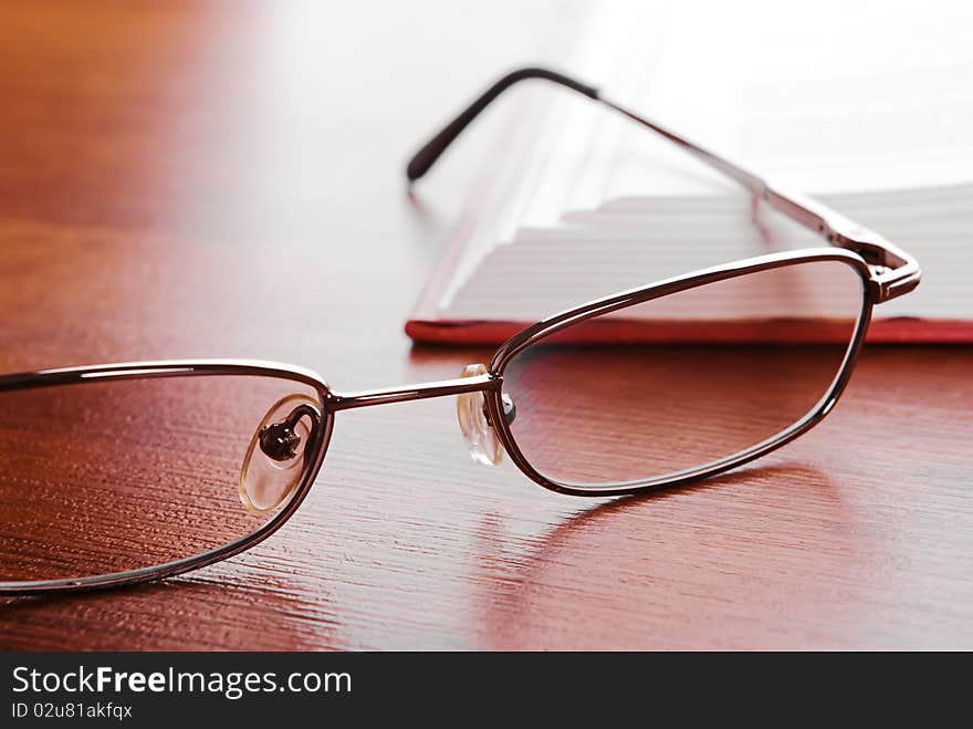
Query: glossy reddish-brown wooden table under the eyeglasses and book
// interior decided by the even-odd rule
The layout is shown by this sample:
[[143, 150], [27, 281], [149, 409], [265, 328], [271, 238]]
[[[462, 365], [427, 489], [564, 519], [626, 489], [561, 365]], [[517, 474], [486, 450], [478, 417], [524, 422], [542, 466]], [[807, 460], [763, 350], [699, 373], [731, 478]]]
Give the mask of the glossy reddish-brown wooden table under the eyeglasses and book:
[[[483, 358], [401, 332], [482, 148], [415, 201], [402, 164], [542, 53], [543, 13], [310, 4], [4, 6], [0, 371], [260, 357], [353, 389]], [[970, 648], [971, 364], [872, 347], [808, 436], [638, 499], [478, 467], [451, 400], [343, 413], [276, 535], [149, 586], [3, 601], [0, 647]]]

